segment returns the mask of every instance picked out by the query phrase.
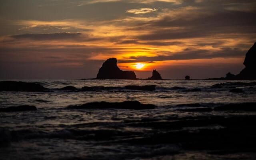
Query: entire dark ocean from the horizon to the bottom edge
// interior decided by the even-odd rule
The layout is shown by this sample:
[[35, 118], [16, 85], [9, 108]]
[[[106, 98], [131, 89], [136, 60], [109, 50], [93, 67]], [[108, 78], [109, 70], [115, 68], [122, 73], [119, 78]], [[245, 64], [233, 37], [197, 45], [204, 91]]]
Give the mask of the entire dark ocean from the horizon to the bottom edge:
[[[1, 160], [256, 158], [254, 81], [12, 81], [35, 82], [50, 91], [0, 92], [0, 108], [37, 108], [0, 112]], [[156, 87], [133, 90], [128, 85]], [[59, 90], [66, 86], [78, 90]], [[84, 86], [93, 89], [79, 90]], [[156, 107], [68, 108], [101, 101]]]

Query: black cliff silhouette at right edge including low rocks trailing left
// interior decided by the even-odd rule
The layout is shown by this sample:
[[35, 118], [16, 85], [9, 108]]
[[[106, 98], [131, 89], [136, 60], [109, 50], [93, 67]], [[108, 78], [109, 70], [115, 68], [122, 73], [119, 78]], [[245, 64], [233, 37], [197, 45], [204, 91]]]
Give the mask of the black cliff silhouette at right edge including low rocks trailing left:
[[228, 72], [225, 78], [209, 78], [208, 80], [256, 80], [256, 42], [246, 53], [244, 66], [245, 68], [237, 75]]

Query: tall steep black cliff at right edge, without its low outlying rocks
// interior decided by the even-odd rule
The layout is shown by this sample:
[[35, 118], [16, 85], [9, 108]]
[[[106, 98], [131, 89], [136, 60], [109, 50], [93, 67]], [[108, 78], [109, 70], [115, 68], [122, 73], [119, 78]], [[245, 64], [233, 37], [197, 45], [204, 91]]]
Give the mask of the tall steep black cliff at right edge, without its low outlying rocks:
[[238, 80], [256, 80], [256, 42], [244, 58], [245, 68], [236, 75]]

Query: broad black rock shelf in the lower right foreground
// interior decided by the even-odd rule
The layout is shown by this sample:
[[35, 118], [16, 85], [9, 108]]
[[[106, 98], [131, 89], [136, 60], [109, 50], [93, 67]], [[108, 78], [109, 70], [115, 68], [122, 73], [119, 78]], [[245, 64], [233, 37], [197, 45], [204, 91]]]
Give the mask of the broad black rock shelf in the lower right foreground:
[[[199, 119], [198, 119], [199, 118]], [[256, 116], [205, 116], [196, 119], [135, 122], [129, 126], [140, 126], [161, 129], [166, 132], [154, 132], [140, 138], [124, 140], [131, 144], [181, 144], [184, 149], [244, 149], [255, 150]], [[198, 128], [196, 132], [188, 132], [186, 128], [203, 126], [223, 126], [217, 128]], [[183, 129], [182, 129], [183, 128]], [[182, 129], [182, 130], [176, 130]], [[176, 130], [176, 131], [174, 131]]]

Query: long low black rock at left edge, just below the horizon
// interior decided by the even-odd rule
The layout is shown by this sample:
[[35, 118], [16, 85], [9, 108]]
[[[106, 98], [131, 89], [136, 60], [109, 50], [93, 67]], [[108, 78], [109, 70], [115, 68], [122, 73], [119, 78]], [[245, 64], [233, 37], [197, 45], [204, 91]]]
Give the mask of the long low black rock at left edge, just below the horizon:
[[46, 92], [49, 89], [35, 82], [0, 81], [0, 91]]

